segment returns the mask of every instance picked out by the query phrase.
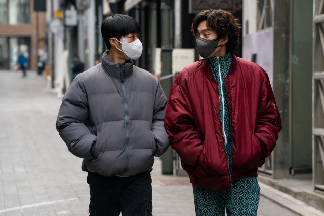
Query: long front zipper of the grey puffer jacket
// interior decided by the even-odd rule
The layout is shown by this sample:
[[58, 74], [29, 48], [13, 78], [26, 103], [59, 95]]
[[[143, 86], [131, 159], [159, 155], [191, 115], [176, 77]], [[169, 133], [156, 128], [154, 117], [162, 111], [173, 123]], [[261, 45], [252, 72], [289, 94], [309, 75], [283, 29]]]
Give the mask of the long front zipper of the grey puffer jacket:
[[123, 90], [123, 98], [124, 98], [124, 111], [125, 111], [125, 133], [126, 133], [126, 143], [125, 143], [125, 170], [123, 176], [126, 176], [126, 171], [128, 169], [128, 158], [129, 158], [129, 140], [130, 140], [130, 134], [129, 134], [129, 128], [128, 128], [128, 123], [129, 123], [129, 118], [128, 118], [128, 106], [127, 106], [127, 100], [126, 100], [126, 91], [125, 91], [125, 84], [124, 84], [124, 75], [125, 75], [125, 68], [124, 71], [123, 67], [120, 66], [120, 79], [121, 79], [121, 89]]

